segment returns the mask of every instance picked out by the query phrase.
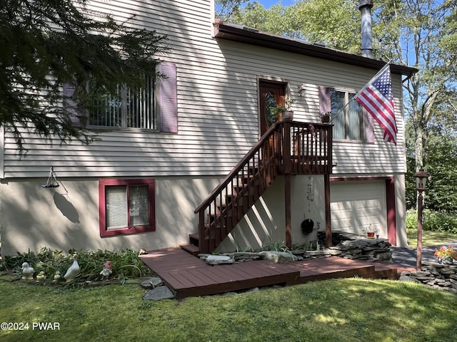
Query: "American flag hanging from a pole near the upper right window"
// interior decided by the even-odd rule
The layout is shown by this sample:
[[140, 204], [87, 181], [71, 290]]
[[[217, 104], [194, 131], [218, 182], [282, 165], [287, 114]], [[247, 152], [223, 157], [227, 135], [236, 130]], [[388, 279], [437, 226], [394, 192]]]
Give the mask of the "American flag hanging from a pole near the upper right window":
[[384, 130], [384, 140], [397, 145], [390, 64], [387, 63], [354, 98], [381, 125]]

